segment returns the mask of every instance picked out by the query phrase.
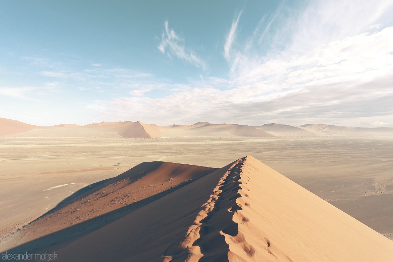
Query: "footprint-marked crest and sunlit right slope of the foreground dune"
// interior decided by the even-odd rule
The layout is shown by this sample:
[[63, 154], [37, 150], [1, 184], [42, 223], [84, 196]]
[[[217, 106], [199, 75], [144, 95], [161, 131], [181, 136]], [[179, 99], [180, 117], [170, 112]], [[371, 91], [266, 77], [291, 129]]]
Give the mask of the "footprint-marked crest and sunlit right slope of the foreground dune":
[[[279, 225], [274, 225], [272, 221], [268, 220], [268, 216], [252, 210], [252, 207], [255, 206], [253, 201], [256, 200], [255, 196], [252, 198], [254, 190], [250, 190], [251, 185], [255, 183], [253, 175], [261, 173], [261, 171], [272, 171], [269, 169], [251, 156], [232, 163], [220, 179], [213, 194], [202, 205], [194, 223], [188, 228], [185, 238], [178, 245], [177, 252], [169, 248], [164, 254], [163, 262], [389, 261], [393, 254], [393, 242], [280, 174], [276, 177], [279, 181], [286, 182], [290, 187], [296, 185], [298, 187], [294, 188], [296, 191], [301, 189], [300, 192], [291, 192], [295, 193], [295, 201], [300, 200], [299, 196], [301, 198], [309, 197], [307, 200], [310, 201], [310, 204], [322, 205], [326, 209], [322, 210], [323, 216], [316, 214], [316, 216], [321, 216], [318, 219], [322, 223], [326, 222], [327, 225], [322, 225], [325, 228], [307, 227], [307, 222], [316, 223], [318, 219], [310, 221], [306, 218], [306, 223], [299, 221], [300, 231], [305, 230], [306, 233], [299, 232], [298, 223], [283, 224], [288, 218], [288, 221], [292, 220], [290, 216], [285, 216], [287, 208], [291, 211], [294, 209], [289, 206], [283, 210], [280, 210], [282, 207], [276, 210], [278, 212], [274, 215], [276, 217], [279, 214], [282, 216], [275, 221], [275, 223], [281, 222]], [[250, 182], [253, 183], [248, 185]], [[261, 195], [260, 192], [258, 193]], [[279, 199], [279, 201], [283, 199]], [[288, 202], [288, 199], [285, 200]], [[286, 206], [285, 204], [283, 206]], [[292, 205], [299, 204], [292, 203]], [[303, 203], [300, 206], [302, 205]], [[314, 208], [318, 209], [316, 206], [312, 207], [312, 209]], [[260, 210], [264, 210], [263, 206]], [[267, 211], [274, 210], [268, 209]], [[292, 215], [296, 220], [297, 214], [293, 213]], [[313, 216], [312, 213], [302, 215]], [[334, 229], [337, 226], [339, 229]], [[330, 231], [327, 230], [329, 227], [331, 227]], [[271, 232], [272, 229], [273, 232]], [[281, 232], [279, 232], [280, 229], [282, 229]], [[317, 232], [313, 234], [310, 229]], [[332, 229], [335, 231], [333, 234], [338, 234], [337, 237], [340, 236], [340, 244], [336, 244], [334, 239], [329, 236]], [[291, 231], [295, 231], [295, 233]], [[308, 234], [309, 239], [299, 238], [298, 234], [303, 236]], [[321, 240], [325, 237], [328, 238], [328, 241]], [[289, 241], [285, 238], [288, 238]], [[380, 250], [374, 252], [369, 249], [369, 245], [377, 245]], [[171, 252], [172, 254], [170, 254]]]

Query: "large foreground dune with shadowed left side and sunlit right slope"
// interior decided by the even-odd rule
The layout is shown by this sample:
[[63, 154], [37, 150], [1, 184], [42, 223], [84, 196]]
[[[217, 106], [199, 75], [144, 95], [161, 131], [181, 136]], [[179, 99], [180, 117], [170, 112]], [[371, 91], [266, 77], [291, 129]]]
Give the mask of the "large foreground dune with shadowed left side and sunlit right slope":
[[251, 156], [143, 162], [2, 238], [59, 261], [391, 261], [393, 242]]

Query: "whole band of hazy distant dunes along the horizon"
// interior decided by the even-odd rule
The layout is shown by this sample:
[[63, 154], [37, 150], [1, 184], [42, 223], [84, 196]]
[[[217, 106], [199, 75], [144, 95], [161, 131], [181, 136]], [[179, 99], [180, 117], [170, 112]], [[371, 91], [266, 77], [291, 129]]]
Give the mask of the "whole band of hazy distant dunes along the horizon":
[[140, 121], [101, 122], [88, 125], [29, 125], [0, 118], [0, 137], [319, 137], [319, 136], [393, 136], [391, 127], [345, 127], [307, 124], [297, 127], [282, 124], [249, 126], [238, 124], [148, 125]]

